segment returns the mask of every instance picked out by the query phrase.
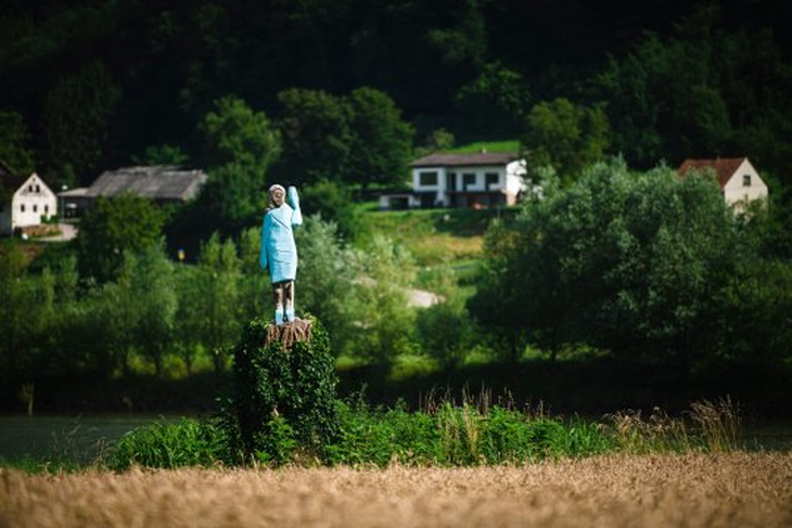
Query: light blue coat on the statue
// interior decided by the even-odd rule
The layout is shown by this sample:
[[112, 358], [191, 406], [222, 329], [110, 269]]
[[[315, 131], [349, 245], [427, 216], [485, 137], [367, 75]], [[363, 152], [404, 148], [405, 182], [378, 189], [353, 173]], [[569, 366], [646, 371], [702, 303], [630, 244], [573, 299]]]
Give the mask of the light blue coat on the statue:
[[297, 275], [297, 246], [293, 229], [303, 223], [297, 190], [289, 188], [286, 201], [269, 209], [261, 227], [261, 269], [269, 268], [272, 283], [293, 281]]

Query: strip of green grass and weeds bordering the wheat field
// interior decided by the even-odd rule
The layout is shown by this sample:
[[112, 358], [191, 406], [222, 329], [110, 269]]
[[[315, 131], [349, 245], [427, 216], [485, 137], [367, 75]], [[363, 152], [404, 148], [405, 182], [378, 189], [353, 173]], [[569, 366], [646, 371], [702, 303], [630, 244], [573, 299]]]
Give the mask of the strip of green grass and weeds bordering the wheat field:
[[[277, 452], [256, 453], [258, 462], [282, 465], [419, 466], [525, 464], [603, 453], [727, 452], [740, 448], [740, 413], [731, 400], [699, 401], [689, 417], [656, 410], [621, 412], [604, 421], [548, 415], [542, 408], [516, 409], [491, 394], [463, 396], [461, 403], [429, 398], [423, 408], [371, 408], [358, 397], [336, 403], [338, 435], [318, 450], [294, 442], [282, 417], [268, 428]], [[227, 422], [226, 422], [227, 423]], [[276, 434], [276, 432], [278, 434]], [[124, 435], [98, 462], [111, 469], [135, 465], [175, 468], [245, 463], [229, 443], [237, 433], [217, 420], [155, 423]]]

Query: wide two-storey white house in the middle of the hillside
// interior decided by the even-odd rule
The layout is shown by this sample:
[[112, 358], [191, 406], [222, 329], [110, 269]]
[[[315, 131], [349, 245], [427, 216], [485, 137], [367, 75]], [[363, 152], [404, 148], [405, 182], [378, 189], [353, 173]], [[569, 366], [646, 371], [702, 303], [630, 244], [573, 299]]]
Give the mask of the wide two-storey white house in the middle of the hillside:
[[514, 153], [431, 154], [412, 162], [412, 193], [387, 198], [409, 207], [514, 205], [525, 189], [523, 175], [525, 160]]

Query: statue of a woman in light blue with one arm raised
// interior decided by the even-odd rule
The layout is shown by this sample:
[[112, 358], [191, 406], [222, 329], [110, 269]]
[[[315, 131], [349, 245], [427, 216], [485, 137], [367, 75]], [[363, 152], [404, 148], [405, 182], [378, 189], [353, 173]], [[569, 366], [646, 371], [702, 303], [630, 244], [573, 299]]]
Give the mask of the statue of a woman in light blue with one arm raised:
[[274, 299], [274, 322], [294, 321], [294, 280], [297, 275], [297, 246], [293, 229], [303, 223], [299, 196], [294, 186], [269, 188], [269, 208], [261, 228], [261, 269], [269, 268]]

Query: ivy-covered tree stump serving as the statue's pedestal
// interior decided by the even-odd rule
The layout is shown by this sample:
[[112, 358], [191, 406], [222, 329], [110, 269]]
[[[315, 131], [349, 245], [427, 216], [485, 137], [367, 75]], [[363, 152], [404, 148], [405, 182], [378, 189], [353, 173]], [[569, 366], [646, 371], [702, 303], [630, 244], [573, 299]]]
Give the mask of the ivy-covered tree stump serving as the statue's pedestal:
[[234, 349], [234, 413], [248, 456], [282, 462], [295, 450], [323, 458], [337, 436], [335, 360], [317, 319], [254, 319]]

